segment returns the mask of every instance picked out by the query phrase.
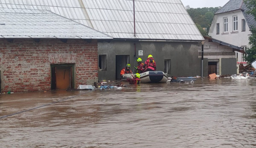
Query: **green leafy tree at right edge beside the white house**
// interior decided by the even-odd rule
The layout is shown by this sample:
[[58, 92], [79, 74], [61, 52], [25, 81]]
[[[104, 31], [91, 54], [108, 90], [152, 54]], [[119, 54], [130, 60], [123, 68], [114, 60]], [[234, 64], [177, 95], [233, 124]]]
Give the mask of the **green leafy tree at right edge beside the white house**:
[[[254, 16], [256, 20], [256, 0], [244, 0], [247, 8], [247, 14], [251, 14]], [[249, 63], [253, 62], [256, 59], [256, 26], [251, 26], [252, 34], [249, 36], [249, 44], [250, 47], [246, 50], [245, 60]]]

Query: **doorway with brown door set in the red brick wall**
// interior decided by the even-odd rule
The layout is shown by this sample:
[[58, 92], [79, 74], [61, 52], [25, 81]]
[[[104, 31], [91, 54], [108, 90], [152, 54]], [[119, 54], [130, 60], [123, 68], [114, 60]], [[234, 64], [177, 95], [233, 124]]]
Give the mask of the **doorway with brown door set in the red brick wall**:
[[74, 65], [61, 64], [51, 65], [52, 89], [73, 89], [74, 88]]

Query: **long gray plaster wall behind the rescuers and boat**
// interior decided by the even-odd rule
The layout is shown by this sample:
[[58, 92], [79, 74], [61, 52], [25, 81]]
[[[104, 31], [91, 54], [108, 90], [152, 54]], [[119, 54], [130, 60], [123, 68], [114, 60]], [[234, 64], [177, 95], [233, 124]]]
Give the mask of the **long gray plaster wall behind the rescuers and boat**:
[[[198, 58], [197, 42], [135, 42], [136, 55], [144, 62], [148, 55], [156, 61], [158, 71], [164, 71], [165, 59], [171, 59], [171, 73], [169, 76], [201, 75], [201, 59]], [[143, 50], [143, 56], [138, 56], [138, 50]], [[112, 41], [98, 43], [98, 54], [107, 55], [107, 71], [99, 71], [99, 81], [115, 80], [116, 55], [130, 55], [131, 70], [134, 67], [134, 42]], [[204, 69], [208, 64], [204, 61]], [[137, 62], [135, 62], [137, 66]], [[123, 65], [125, 67], [125, 65]]]

